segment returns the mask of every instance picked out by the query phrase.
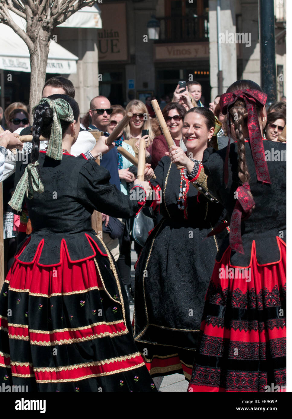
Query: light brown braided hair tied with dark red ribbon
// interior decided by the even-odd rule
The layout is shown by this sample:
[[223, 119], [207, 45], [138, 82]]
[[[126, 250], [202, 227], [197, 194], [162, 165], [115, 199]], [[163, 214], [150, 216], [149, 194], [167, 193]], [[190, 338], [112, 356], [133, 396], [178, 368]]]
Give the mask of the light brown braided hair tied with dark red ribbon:
[[[251, 80], [239, 80], [229, 86], [226, 93], [232, 93], [236, 90], [253, 89], [263, 92], [260, 86]], [[256, 105], [257, 113], [259, 114], [262, 107]], [[244, 129], [247, 129], [248, 111], [245, 107], [243, 99], [237, 99], [232, 107], [228, 109], [228, 117], [234, 123], [235, 135], [237, 140], [237, 153], [238, 153], [238, 177], [240, 182], [244, 184], [249, 183], [250, 174], [248, 172], [248, 165], [245, 156], [245, 139], [243, 135]]]

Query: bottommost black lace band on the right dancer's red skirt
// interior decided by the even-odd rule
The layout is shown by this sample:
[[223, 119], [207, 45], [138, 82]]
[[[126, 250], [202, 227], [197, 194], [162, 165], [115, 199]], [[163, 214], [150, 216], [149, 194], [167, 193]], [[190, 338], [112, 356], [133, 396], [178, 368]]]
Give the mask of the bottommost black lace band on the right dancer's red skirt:
[[[274, 383], [286, 385], [286, 370], [274, 370]], [[227, 391], [266, 391], [267, 372], [222, 371], [220, 368], [196, 365], [191, 384], [225, 388]]]

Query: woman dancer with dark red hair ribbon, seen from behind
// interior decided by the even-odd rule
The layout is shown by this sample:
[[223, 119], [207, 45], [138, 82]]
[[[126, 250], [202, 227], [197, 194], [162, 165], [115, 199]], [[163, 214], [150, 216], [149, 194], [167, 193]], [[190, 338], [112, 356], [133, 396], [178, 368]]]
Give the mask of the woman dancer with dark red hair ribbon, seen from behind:
[[207, 149], [203, 167], [170, 153], [188, 170], [198, 168], [197, 187], [208, 176], [230, 220], [206, 295], [189, 391], [285, 391], [286, 144], [262, 138], [266, 97], [250, 80], [227, 89], [220, 106], [237, 141]]

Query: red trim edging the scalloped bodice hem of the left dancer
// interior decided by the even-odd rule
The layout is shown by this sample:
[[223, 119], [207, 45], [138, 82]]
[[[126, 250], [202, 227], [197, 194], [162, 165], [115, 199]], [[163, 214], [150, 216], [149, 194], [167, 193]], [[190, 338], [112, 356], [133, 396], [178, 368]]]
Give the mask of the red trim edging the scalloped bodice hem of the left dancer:
[[[24, 250], [24, 248], [26, 247], [26, 245], [29, 243], [29, 241], [30, 241], [30, 239], [31, 239], [31, 237], [29, 237], [28, 238], [28, 240], [23, 244], [23, 247], [21, 248], [21, 250], [20, 250], [20, 252], [15, 256], [15, 259], [20, 263], [20, 264], [24, 264], [24, 265], [31, 265], [31, 264], [33, 264], [35, 261], [36, 261], [36, 257], [37, 257], [37, 255], [38, 255], [38, 253], [39, 253], [39, 257], [37, 258], [37, 261], [36, 261], [36, 264], [37, 264], [37, 266], [60, 266], [61, 264], [62, 264], [62, 262], [63, 262], [63, 255], [64, 255], [64, 249], [65, 249], [65, 251], [66, 251], [66, 253], [67, 253], [67, 257], [68, 257], [68, 260], [70, 261], [70, 263], [78, 263], [78, 262], [83, 262], [83, 261], [86, 261], [86, 260], [88, 260], [88, 259], [92, 259], [92, 258], [94, 258], [95, 256], [96, 256], [96, 249], [99, 251], [99, 253], [102, 255], [102, 256], [107, 256], [107, 253], [103, 253], [102, 251], [101, 251], [101, 249], [99, 248], [99, 246], [98, 246], [98, 244], [88, 235], [88, 234], [86, 234], [86, 233], [84, 233], [85, 234], [85, 236], [86, 236], [86, 238], [87, 238], [87, 240], [89, 241], [89, 245], [90, 245], [90, 247], [92, 248], [92, 251], [93, 251], [93, 254], [91, 254], [91, 255], [89, 255], [89, 256], [86, 256], [85, 258], [83, 258], [83, 259], [77, 259], [77, 260], [72, 260], [71, 258], [70, 258], [70, 254], [69, 254], [69, 251], [68, 251], [68, 247], [67, 247], [67, 243], [66, 243], [66, 241], [65, 241], [65, 239], [63, 238], [62, 239], [62, 241], [61, 241], [61, 243], [60, 243], [60, 262], [58, 262], [58, 263], [55, 263], [55, 264], [49, 264], [49, 265], [46, 265], [46, 264], [41, 264], [41, 263], [39, 263], [39, 258], [40, 258], [40, 256], [41, 256], [41, 253], [42, 253], [42, 248], [43, 248], [43, 246], [44, 246], [44, 238], [39, 242], [39, 245], [37, 246], [37, 249], [36, 249], [36, 253], [35, 253], [35, 255], [34, 255], [34, 259], [32, 260], [32, 261], [30, 261], [30, 262], [23, 262], [23, 261], [21, 261], [20, 259], [19, 259], [19, 256], [21, 255], [21, 253], [23, 252], [23, 250]], [[94, 246], [96, 247], [96, 249], [94, 248]]]

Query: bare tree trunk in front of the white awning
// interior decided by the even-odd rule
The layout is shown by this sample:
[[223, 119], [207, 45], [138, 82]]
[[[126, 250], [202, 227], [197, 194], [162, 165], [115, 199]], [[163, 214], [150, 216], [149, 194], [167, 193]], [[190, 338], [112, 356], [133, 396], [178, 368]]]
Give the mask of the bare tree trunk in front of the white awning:
[[33, 123], [32, 108], [42, 98], [42, 88], [46, 80], [47, 57], [50, 47], [50, 34], [41, 25], [30, 28], [34, 49], [30, 51], [31, 83], [29, 91], [29, 120]]

